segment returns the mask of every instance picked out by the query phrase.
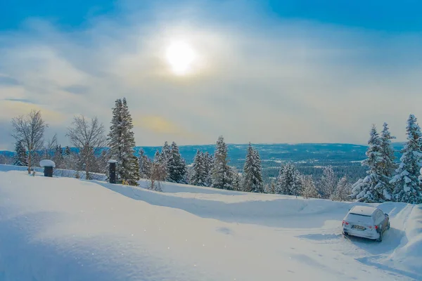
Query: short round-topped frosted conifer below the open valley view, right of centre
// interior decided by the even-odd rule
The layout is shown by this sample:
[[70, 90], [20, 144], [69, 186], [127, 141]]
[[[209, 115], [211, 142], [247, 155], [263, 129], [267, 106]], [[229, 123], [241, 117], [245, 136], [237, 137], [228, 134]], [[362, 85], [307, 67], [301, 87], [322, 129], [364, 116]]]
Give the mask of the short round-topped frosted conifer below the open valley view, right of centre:
[[298, 196], [302, 192], [300, 173], [293, 164], [287, 163], [280, 169], [276, 193]]

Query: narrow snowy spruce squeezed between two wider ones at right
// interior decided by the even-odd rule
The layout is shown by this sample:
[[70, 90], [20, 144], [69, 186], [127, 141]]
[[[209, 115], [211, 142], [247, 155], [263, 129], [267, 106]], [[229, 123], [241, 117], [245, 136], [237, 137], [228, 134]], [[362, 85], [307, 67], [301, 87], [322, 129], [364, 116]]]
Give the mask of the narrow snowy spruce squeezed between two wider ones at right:
[[383, 124], [383, 131], [381, 132], [381, 168], [382, 176], [380, 181], [383, 182], [385, 186], [383, 190], [383, 199], [390, 201], [392, 200], [393, 185], [390, 183], [392, 176], [394, 175], [395, 169], [397, 169], [397, 164], [395, 163], [394, 149], [391, 145], [391, 140], [395, 139], [395, 136], [391, 136], [390, 129], [388, 129], [388, 124]]

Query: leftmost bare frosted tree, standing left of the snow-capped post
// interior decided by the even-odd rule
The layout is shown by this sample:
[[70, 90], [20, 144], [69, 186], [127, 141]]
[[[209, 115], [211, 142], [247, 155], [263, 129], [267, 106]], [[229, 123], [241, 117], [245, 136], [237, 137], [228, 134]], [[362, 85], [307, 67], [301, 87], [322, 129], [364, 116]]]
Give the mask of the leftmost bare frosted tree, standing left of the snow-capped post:
[[28, 152], [28, 174], [31, 174], [34, 152], [43, 146], [44, 131], [49, 126], [41, 118], [41, 112], [31, 110], [28, 115], [20, 115], [12, 119], [12, 136], [16, 141], [22, 141]]

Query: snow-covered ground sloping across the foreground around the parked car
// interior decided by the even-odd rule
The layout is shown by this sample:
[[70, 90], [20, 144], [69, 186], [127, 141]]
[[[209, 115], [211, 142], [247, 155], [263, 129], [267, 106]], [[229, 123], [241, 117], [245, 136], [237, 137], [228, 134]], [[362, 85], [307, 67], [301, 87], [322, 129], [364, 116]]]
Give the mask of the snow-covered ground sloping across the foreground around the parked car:
[[354, 203], [4, 170], [1, 281], [422, 280], [421, 205], [380, 204], [378, 243], [340, 234]]

